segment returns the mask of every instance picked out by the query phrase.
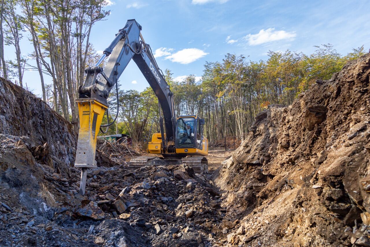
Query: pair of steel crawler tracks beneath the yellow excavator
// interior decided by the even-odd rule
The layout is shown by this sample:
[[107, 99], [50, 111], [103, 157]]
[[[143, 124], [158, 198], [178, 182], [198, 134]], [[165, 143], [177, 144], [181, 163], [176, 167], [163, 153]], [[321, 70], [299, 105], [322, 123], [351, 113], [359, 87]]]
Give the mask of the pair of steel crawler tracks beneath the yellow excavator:
[[175, 165], [185, 164], [194, 169], [195, 173], [208, 173], [208, 161], [203, 156], [188, 156], [178, 161], [159, 159], [153, 156], [140, 156], [130, 159], [128, 168], [138, 169], [147, 165]]

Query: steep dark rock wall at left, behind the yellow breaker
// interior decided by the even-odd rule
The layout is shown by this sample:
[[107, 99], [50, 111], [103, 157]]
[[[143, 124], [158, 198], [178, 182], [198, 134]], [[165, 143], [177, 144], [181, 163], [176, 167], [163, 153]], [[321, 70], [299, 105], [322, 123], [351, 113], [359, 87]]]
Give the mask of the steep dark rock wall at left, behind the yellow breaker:
[[73, 165], [77, 135], [73, 125], [23, 88], [0, 78], [0, 133], [28, 136], [34, 146], [48, 144], [50, 154]]

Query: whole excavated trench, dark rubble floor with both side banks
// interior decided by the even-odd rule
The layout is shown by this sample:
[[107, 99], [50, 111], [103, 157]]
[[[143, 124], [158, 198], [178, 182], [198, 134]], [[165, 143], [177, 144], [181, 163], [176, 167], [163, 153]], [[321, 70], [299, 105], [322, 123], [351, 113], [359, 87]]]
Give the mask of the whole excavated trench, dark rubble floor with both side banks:
[[210, 174], [102, 155], [84, 197], [70, 123], [0, 78], [0, 244], [370, 246], [369, 75], [367, 54], [270, 105]]

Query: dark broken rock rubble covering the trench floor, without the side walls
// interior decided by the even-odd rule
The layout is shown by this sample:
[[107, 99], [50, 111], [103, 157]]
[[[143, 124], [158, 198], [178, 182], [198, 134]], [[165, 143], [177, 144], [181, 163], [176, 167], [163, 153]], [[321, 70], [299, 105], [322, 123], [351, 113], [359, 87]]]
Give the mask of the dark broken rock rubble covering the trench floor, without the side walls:
[[[38, 163], [22, 138], [0, 135], [1, 246], [211, 246], [225, 209], [188, 167], [79, 169]], [[209, 177], [210, 175], [208, 175]]]

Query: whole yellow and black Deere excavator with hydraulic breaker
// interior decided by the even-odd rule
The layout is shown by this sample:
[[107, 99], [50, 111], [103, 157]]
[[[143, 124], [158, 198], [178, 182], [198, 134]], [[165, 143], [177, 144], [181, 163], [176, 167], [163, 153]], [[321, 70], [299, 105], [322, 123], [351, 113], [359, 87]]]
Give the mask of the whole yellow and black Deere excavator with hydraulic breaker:
[[[154, 133], [148, 142], [147, 152], [157, 154], [132, 158], [129, 168], [147, 165], [186, 164], [195, 172], [208, 172], [208, 139], [203, 136], [205, 120], [197, 115], [175, 115], [174, 94], [167, 84], [162, 70], [155, 61], [152, 49], [145, 43], [142, 27], [135, 19], [128, 20], [120, 29], [102, 57], [93, 67], [85, 69], [84, 85], [78, 88], [75, 103], [80, 117], [80, 128], [76, 149], [75, 167], [81, 169], [80, 194], [85, 194], [87, 169], [96, 168], [95, 152], [99, 130], [103, 133], [118, 116], [118, 78], [132, 60], [139, 67], [158, 98], [160, 133]], [[109, 57], [105, 66], [103, 61]], [[117, 113], [109, 122], [108, 96], [115, 86], [117, 93]], [[108, 123], [102, 125], [107, 112]], [[164, 123], [164, 124], [163, 124]], [[104, 131], [104, 127], [107, 130]]]

